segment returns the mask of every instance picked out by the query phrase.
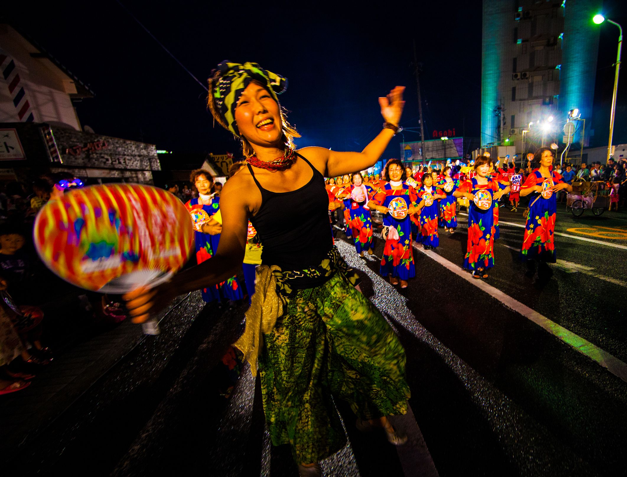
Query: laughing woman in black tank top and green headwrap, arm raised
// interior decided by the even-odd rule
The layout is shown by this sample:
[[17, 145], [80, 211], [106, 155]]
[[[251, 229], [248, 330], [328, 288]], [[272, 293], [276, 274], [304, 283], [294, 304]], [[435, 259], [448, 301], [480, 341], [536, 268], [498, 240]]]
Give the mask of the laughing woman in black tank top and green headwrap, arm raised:
[[379, 310], [354, 287], [357, 276], [333, 245], [324, 188], [325, 175], [376, 163], [398, 131], [404, 88], [379, 98], [383, 128], [359, 153], [295, 150], [299, 135], [277, 98], [286, 85], [255, 63], [219, 65], [209, 79], [209, 109], [240, 138], [248, 167], [224, 185], [218, 252], [167, 285], [125, 298], [142, 322], [173, 297], [232, 276], [244, 256], [250, 217], [263, 243], [262, 265], [236, 345], [253, 372], [258, 357], [272, 443], [290, 444], [302, 475], [320, 475], [317, 462], [346, 440], [332, 396], [347, 401], [362, 422], [381, 426], [389, 441], [406, 440], [386, 418], [407, 411], [404, 350]]

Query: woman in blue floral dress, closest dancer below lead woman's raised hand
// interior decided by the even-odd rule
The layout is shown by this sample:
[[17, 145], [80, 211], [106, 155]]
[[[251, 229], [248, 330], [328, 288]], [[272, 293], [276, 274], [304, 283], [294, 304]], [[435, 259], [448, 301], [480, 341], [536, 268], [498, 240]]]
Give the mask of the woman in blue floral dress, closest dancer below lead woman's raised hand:
[[411, 216], [418, 212], [418, 197], [414, 188], [405, 183], [405, 170], [401, 161], [390, 159], [384, 171], [389, 181], [368, 203], [368, 207], [384, 214], [383, 238], [386, 244], [379, 273], [389, 277], [393, 285], [398, 285], [401, 280], [401, 288], [407, 288], [407, 280], [416, 276]]

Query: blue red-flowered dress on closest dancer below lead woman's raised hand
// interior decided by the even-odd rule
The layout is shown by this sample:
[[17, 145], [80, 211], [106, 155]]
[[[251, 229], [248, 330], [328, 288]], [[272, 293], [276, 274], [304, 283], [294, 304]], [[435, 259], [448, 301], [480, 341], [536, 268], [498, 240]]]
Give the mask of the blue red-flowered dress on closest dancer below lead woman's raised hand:
[[[409, 208], [416, 207], [416, 192], [414, 188], [403, 182], [403, 188], [393, 190], [391, 185], [386, 183], [384, 188], [377, 192], [372, 201], [383, 207], [390, 207], [393, 200], [399, 199]], [[381, 269], [379, 273], [384, 277], [392, 275], [401, 280], [408, 280], [416, 276], [414, 267], [414, 254], [411, 238], [411, 218], [394, 218], [386, 213], [383, 217], [384, 231], [387, 231], [386, 244], [381, 258]]]

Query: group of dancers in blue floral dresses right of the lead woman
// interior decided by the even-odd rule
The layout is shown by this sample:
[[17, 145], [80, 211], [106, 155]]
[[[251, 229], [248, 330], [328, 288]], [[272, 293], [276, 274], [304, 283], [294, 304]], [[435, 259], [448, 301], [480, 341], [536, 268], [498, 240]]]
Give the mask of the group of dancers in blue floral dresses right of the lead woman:
[[557, 192], [572, 190], [553, 170], [554, 160], [551, 148], [540, 148], [534, 154], [535, 168], [525, 177], [513, 161], [501, 168], [488, 154], [470, 165], [448, 163], [441, 170], [423, 168], [418, 172], [391, 159], [382, 180], [366, 183], [367, 175], [359, 172], [327, 180], [329, 210], [344, 210], [345, 233], [362, 256], [373, 253], [371, 210], [381, 212], [385, 245], [380, 273], [391, 284], [406, 288], [408, 280], [416, 276], [414, 240], [425, 250], [436, 249], [440, 245], [439, 227], [455, 233], [460, 206], [468, 211], [463, 268], [476, 279], [487, 279], [494, 266], [494, 240], [500, 237], [500, 199], [508, 195], [510, 210], [516, 212], [520, 196], [531, 195], [520, 258], [527, 262], [529, 274], [535, 273], [538, 263], [540, 272], [547, 272], [546, 264], [556, 262], [553, 233]]

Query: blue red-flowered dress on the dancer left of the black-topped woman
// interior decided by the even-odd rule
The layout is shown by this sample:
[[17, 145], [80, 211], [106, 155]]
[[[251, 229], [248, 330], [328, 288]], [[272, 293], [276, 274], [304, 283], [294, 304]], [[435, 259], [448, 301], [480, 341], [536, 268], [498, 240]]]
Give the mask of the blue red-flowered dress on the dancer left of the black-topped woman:
[[[198, 198], [192, 198], [189, 200], [185, 207], [191, 212], [194, 209], [203, 209], [209, 217], [212, 217], [219, 210], [219, 197], [214, 197], [209, 205], [201, 205], [198, 203]], [[218, 250], [218, 244], [220, 242], [220, 234], [209, 235], [208, 233], [198, 232], [194, 230], [194, 242], [196, 244], [196, 262], [201, 264], [205, 260], [211, 259]], [[244, 295], [241, 291], [240, 282], [236, 277], [231, 277], [225, 280], [221, 284], [213, 285], [203, 289], [203, 300], [206, 302], [212, 302], [217, 300], [241, 300]]]

